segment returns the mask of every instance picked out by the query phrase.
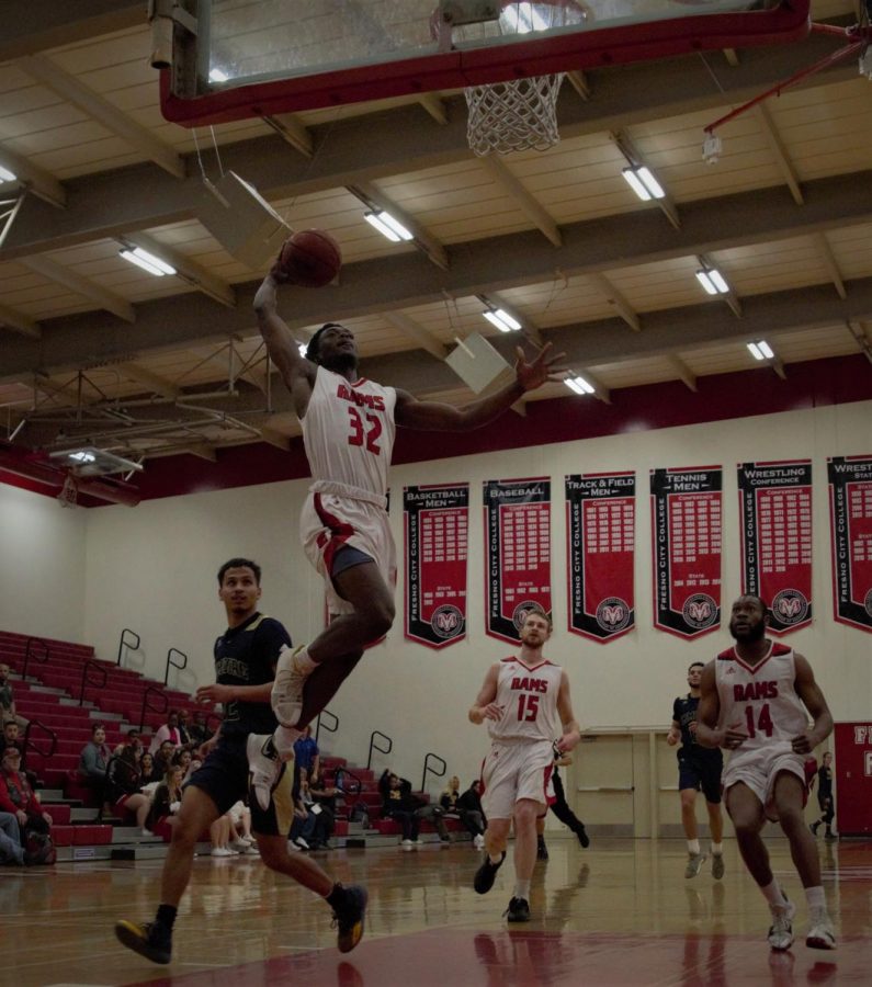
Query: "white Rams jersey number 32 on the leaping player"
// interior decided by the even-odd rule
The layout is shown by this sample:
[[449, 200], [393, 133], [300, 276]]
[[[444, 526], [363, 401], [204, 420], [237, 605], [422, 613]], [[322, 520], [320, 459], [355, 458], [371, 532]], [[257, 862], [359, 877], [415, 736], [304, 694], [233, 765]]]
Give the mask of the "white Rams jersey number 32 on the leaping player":
[[350, 384], [341, 374], [318, 367], [302, 422], [313, 489], [322, 489], [326, 481], [330, 492], [362, 492], [381, 498], [384, 506], [396, 401], [393, 387], [365, 378]]

